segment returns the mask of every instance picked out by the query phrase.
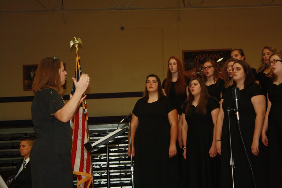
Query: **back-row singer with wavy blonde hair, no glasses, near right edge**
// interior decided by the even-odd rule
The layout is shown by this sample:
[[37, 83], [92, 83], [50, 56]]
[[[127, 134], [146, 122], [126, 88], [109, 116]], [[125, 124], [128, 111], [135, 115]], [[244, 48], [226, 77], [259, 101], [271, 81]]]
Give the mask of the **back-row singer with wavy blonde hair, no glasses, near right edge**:
[[262, 50], [261, 54], [261, 60], [260, 60], [260, 66], [258, 71], [258, 74], [256, 75], [256, 83], [259, 84], [264, 92], [264, 96], [267, 97], [267, 85], [269, 83], [269, 77], [267, 75], [270, 72], [270, 54], [273, 52], [277, 52], [277, 49], [274, 46], [265, 46]]

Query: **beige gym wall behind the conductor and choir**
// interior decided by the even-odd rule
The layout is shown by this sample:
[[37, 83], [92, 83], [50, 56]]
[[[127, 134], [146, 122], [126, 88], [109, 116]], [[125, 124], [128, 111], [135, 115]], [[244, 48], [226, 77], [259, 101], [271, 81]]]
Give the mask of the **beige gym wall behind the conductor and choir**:
[[[56, 56], [66, 64], [69, 94], [75, 69], [70, 40], [81, 38], [82, 71], [91, 76], [86, 93], [143, 91], [148, 74], [166, 77], [167, 59], [182, 50], [242, 48], [258, 68], [265, 45], [282, 49], [281, 8], [147, 11], [122, 13], [0, 14], [0, 97], [23, 91], [24, 64]], [[125, 29], [120, 30], [123, 26]], [[132, 111], [138, 98], [90, 99], [88, 115]], [[0, 120], [31, 119], [31, 102], [0, 103]]]

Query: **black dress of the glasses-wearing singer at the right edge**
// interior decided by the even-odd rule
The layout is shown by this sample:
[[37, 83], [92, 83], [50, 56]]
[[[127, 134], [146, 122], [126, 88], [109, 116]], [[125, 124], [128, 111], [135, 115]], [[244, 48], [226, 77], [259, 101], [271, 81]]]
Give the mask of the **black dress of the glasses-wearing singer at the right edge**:
[[268, 115], [269, 187], [282, 186], [282, 84], [270, 81], [268, 98], [271, 108]]

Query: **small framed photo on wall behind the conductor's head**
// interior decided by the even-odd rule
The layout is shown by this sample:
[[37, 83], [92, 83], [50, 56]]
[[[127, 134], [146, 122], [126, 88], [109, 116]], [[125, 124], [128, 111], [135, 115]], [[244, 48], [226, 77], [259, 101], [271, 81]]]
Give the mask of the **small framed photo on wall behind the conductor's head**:
[[[33, 80], [36, 74], [37, 67], [38, 67], [38, 64], [23, 65], [24, 91], [31, 91], [31, 86], [33, 84]], [[66, 82], [63, 85], [63, 88], [66, 89]]]

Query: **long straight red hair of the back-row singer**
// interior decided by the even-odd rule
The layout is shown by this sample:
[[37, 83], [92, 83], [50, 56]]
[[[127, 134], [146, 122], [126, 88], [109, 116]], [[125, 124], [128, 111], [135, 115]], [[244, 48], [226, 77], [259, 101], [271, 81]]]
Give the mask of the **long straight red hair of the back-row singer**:
[[187, 86], [186, 80], [185, 80], [185, 76], [187, 76], [187, 74], [185, 73], [183, 69], [180, 59], [175, 56], [171, 56], [168, 60], [167, 79], [165, 82], [165, 93], [167, 94], [167, 96], [170, 95], [170, 85], [171, 85], [171, 78], [172, 78], [172, 74], [169, 68], [170, 59], [175, 59], [175, 61], [177, 62], [177, 81], [175, 83], [175, 94], [176, 95], [184, 94], [186, 92], [186, 86]]

